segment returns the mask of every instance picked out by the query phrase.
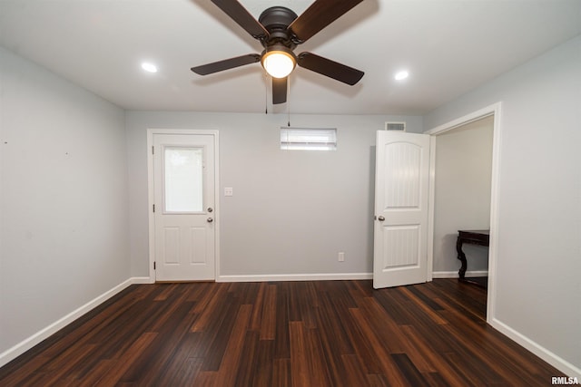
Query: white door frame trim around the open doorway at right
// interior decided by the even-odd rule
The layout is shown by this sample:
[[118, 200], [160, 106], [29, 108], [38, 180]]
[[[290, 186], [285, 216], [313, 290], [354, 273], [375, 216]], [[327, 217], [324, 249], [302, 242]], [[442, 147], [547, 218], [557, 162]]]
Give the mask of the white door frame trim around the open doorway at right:
[[[495, 306], [497, 300], [497, 257], [498, 257], [498, 214], [499, 214], [499, 181], [500, 181], [500, 142], [501, 142], [501, 110], [502, 102], [493, 103], [478, 111], [472, 111], [456, 120], [448, 121], [436, 128], [425, 131], [424, 134], [429, 134], [432, 137], [435, 145], [435, 136], [446, 131], [451, 131], [460, 126], [466, 125], [473, 121], [494, 116], [493, 123], [493, 139], [492, 139], [492, 179], [490, 181], [490, 246], [488, 247], [488, 289], [487, 289], [487, 323], [492, 324], [495, 319]], [[432, 157], [435, 160], [436, 147], [432, 150]], [[430, 164], [430, 181], [429, 181], [429, 219], [428, 224], [432, 231], [434, 229], [434, 202], [435, 190], [434, 183], [436, 179], [436, 165]], [[428, 248], [428, 261], [433, 261], [434, 244], [433, 240], [430, 242], [431, 248]], [[433, 270], [433, 268], [432, 268]]]

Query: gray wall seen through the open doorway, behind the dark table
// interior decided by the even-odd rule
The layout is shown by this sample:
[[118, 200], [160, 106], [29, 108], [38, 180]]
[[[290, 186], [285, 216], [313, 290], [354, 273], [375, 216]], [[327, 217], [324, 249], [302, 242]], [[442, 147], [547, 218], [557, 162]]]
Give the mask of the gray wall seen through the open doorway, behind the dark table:
[[[490, 227], [493, 127], [487, 117], [436, 136], [434, 276], [458, 274], [459, 229]], [[468, 272], [488, 269], [487, 247], [466, 244], [462, 251]]]

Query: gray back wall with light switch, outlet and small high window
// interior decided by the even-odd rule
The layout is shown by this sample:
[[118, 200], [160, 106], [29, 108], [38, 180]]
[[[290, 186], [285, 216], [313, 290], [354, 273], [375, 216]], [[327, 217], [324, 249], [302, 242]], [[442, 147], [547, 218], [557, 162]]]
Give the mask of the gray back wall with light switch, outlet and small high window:
[[[372, 271], [375, 131], [421, 117], [291, 115], [297, 127], [337, 128], [338, 150], [280, 150], [286, 115], [127, 112], [133, 276], [148, 276], [148, 128], [220, 131], [220, 274]], [[223, 197], [223, 188], [234, 195]], [[345, 262], [338, 253], [345, 252]]]

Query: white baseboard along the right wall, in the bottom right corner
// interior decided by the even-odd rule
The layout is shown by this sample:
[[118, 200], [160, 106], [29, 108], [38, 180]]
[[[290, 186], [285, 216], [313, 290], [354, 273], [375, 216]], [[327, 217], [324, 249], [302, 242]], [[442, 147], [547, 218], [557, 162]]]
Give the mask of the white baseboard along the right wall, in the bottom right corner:
[[[576, 367], [576, 365], [568, 363], [565, 359], [562, 359], [561, 357], [557, 356], [556, 353], [550, 352], [549, 350], [547, 350], [547, 348], [529, 339], [524, 334], [518, 333], [513, 328], [511, 328], [507, 324], [502, 323], [496, 318], [493, 318], [490, 321], [490, 325], [492, 325], [492, 327], [501, 334], [507, 336], [509, 339], [527, 348], [528, 351], [535, 353], [538, 357], [543, 359], [545, 362], [551, 364], [557, 370], [565, 373], [567, 376], [576, 377], [578, 380], [581, 380], [581, 369], [579, 367]], [[548, 383], [549, 381], [547, 381], [547, 384]]]

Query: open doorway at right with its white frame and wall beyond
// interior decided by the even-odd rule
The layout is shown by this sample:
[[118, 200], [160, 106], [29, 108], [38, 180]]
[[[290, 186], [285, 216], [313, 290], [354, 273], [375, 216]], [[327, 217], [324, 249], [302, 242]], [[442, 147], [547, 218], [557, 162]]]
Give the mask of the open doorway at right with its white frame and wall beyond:
[[426, 132], [436, 150], [430, 184], [433, 275], [458, 277], [458, 230], [489, 230], [488, 247], [462, 247], [467, 276], [487, 285], [487, 322], [496, 295], [499, 117], [500, 102]]

